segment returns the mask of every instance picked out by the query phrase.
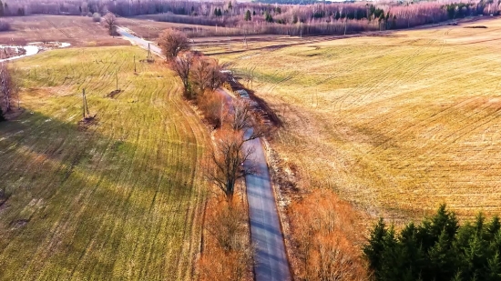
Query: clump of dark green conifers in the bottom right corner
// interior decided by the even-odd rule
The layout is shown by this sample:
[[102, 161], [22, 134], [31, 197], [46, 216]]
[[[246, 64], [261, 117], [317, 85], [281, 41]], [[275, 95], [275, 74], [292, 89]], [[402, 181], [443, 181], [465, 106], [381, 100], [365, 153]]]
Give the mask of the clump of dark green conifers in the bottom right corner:
[[374, 226], [363, 254], [374, 279], [501, 281], [501, 222], [479, 214], [460, 226], [454, 213], [440, 206], [435, 216], [400, 233]]

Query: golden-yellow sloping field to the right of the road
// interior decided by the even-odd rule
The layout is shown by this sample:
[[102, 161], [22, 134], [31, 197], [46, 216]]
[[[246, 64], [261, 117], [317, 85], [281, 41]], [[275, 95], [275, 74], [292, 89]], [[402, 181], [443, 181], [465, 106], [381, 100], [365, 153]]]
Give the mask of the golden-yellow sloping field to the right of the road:
[[285, 122], [300, 187], [373, 216], [501, 213], [501, 20], [220, 55]]

